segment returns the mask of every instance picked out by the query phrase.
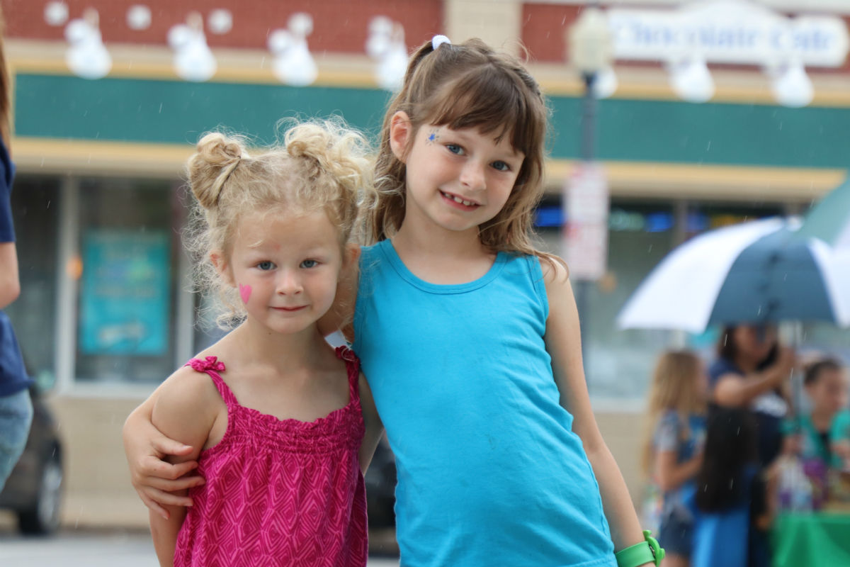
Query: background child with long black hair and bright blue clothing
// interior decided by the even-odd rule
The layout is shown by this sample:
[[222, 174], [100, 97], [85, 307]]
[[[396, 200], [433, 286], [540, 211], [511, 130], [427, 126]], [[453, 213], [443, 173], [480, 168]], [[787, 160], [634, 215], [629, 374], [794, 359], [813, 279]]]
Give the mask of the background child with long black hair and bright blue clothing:
[[772, 491], [759, 473], [751, 412], [712, 409], [696, 478], [691, 567], [769, 567]]

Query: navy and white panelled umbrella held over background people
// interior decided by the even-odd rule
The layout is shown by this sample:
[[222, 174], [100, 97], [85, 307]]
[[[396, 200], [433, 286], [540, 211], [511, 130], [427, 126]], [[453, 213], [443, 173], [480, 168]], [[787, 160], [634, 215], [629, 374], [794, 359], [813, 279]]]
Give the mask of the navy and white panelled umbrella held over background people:
[[850, 326], [850, 253], [767, 218], [675, 248], [618, 315], [621, 328], [703, 332], [713, 324], [825, 320]]

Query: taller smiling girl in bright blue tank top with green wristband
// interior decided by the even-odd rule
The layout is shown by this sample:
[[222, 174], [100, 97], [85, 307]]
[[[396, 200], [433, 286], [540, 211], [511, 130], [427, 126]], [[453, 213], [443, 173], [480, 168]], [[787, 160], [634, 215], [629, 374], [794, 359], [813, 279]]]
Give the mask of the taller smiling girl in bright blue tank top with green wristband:
[[[405, 566], [663, 556], [592, 414], [568, 270], [530, 241], [546, 127], [519, 60], [442, 36], [411, 56], [384, 119], [367, 227], [377, 243], [337, 297], [353, 318], [337, 315], [353, 321], [396, 456]], [[151, 480], [165, 473], [150, 457], [133, 464], [173, 450], [144, 421], [134, 412], [125, 439], [133, 483], [156, 501], [193, 480]]]

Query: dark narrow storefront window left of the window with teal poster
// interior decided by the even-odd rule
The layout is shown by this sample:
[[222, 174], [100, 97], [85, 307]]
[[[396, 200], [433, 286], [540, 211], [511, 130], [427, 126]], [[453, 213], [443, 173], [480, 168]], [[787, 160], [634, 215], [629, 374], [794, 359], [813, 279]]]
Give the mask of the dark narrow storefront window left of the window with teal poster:
[[5, 311], [14, 325], [27, 370], [42, 388], [55, 382], [59, 179], [19, 175], [12, 214], [20, 297]]

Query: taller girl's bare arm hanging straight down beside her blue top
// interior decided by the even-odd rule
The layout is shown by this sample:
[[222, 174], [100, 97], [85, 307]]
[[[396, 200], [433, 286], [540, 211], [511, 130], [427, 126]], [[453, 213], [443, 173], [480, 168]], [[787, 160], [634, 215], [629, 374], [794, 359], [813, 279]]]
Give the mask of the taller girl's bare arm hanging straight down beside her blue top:
[[596, 476], [615, 551], [640, 543], [643, 531], [620, 468], [605, 445], [593, 417], [581, 361], [578, 309], [567, 269], [557, 262], [541, 262], [549, 302], [546, 348], [552, 357], [560, 403], [573, 416], [573, 431], [581, 438]]

